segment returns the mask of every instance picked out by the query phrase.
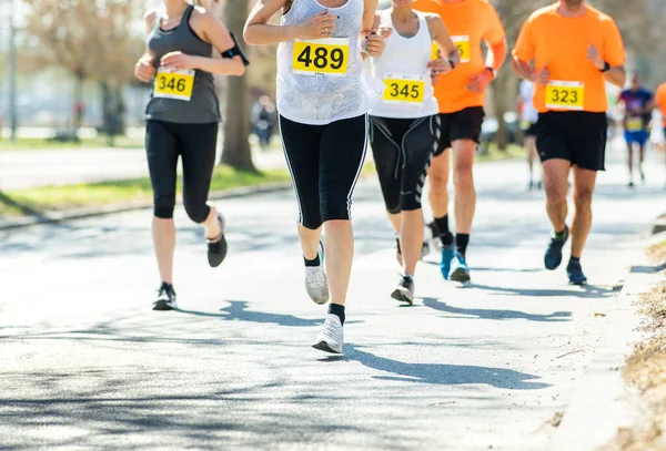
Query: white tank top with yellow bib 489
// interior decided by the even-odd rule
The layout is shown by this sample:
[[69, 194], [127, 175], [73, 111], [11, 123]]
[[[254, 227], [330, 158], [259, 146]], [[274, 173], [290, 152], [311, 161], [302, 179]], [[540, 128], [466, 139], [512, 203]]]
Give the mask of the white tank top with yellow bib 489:
[[[324, 8], [316, 0], [294, 0], [283, 25], [329, 10], [340, 17], [332, 39], [286, 41], [278, 47], [278, 112], [290, 121], [324, 125], [367, 113], [380, 99], [359, 50], [363, 0]], [[319, 57], [319, 59], [317, 59]]]

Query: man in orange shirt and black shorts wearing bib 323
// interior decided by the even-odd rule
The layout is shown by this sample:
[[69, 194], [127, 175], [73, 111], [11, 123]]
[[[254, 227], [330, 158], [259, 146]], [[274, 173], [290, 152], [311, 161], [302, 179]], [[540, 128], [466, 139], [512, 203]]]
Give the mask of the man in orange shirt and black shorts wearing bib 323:
[[[534, 63], [534, 68], [531, 65]], [[623, 86], [625, 51], [612, 18], [584, 0], [559, 0], [524, 23], [514, 50], [516, 73], [536, 83], [537, 147], [543, 162], [548, 217], [555, 232], [545, 255], [547, 269], [562, 263], [568, 176], [574, 172], [571, 284], [584, 285], [581, 256], [592, 225], [592, 195], [606, 153], [605, 82]]]

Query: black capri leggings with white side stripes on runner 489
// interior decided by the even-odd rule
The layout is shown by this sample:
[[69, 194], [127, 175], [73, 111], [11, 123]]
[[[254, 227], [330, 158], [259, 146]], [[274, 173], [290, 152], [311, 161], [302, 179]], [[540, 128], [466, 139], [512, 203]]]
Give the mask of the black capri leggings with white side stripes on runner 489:
[[351, 219], [352, 194], [367, 148], [367, 116], [306, 125], [280, 116], [284, 155], [300, 207], [300, 222], [317, 229]]

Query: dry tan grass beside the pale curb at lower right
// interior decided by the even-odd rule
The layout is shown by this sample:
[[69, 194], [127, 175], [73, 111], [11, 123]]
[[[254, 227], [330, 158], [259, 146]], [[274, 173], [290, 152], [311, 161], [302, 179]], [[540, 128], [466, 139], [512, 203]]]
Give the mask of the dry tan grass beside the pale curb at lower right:
[[[648, 255], [666, 262], [666, 242], [652, 246]], [[666, 273], [662, 273], [666, 276]], [[666, 449], [666, 278], [637, 300], [638, 311], [648, 317], [649, 338], [639, 342], [627, 359], [624, 378], [645, 402], [636, 424], [620, 429], [609, 449], [622, 451]]]

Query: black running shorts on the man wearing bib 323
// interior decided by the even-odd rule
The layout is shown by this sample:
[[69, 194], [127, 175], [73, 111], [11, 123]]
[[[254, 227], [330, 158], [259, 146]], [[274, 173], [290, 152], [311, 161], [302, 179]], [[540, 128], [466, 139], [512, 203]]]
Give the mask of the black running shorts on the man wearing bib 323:
[[562, 158], [589, 171], [605, 171], [606, 113], [547, 112], [538, 115], [536, 146], [542, 162]]

